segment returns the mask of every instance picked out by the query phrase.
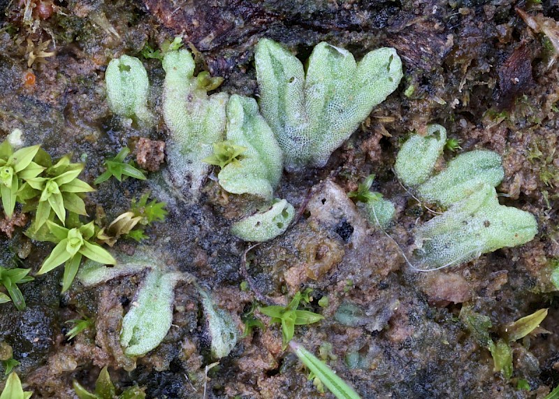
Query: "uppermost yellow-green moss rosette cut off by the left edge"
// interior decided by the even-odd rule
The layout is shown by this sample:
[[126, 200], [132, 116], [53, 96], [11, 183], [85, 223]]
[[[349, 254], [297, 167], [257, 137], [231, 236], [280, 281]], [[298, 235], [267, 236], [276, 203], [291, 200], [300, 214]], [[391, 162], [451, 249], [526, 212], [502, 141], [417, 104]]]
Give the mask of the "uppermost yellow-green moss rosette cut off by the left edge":
[[8, 140], [0, 144], [0, 197], [8, 218], [13, 215], [16, 201], [25, 202], [20, 198], [23, 182], [37, 177], [45, 169], [33, 161], [38, 150], [39, 146], [34, 145], [14, 152]]

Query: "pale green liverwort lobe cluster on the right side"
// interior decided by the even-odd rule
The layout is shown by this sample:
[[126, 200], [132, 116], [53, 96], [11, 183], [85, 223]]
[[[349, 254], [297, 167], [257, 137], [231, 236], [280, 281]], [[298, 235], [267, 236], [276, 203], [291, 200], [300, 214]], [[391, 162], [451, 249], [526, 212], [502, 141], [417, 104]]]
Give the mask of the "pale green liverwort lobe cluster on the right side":
[[534, 215], [498, 201], [495, 187], [504, 177], [499, 154], [465, 152], [434, 173], [446, 141], [446, 129], [432, 124], [425, 136], [410, 136], [396, 158], [400, 182], [419, 200], [443, 210], [414, 231], [412, 265], [419, 270], [458, 265], [502, 247], [523, 245], [537, 233]]

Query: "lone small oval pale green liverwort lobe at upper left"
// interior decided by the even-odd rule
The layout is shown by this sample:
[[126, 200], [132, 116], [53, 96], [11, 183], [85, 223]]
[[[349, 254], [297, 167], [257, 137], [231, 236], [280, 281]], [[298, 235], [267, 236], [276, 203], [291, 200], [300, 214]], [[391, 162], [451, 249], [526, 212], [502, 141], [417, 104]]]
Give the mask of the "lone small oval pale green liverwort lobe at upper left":
[[124, 117], [136, 117], [151, 124], [154, 116], [147, 109], [150, 81], [142, 61], [122, 55], [112, 59], [105, 72], [107, 99], [110, 110]]

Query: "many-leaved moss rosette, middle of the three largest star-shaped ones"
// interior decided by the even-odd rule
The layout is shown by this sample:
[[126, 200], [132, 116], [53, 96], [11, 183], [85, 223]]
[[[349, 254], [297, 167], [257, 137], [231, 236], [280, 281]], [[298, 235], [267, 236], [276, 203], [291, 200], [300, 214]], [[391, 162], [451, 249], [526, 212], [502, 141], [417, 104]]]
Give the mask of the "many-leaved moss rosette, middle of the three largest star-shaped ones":
[[52, 212], [62, 224], [66, 222], [66, 210], [87, 216], [85, 203], [80, 194], [95, 191], [95, 189], [78, 179], [84, 164], [71, 163], [69, 154], [61, 157], [54, 165], [52, 165], [50, 155], [46, 152], [39, 152], [39, 156], [41, 159], [38, 163], [46, 167], [45, 176], [27, 179], [27, 185], [22, 187], [21, 191], [22, 196], [26, 199], [38, 194], [34, 231], [37, 232], [47, 220], [52, 219], [50, 217]]

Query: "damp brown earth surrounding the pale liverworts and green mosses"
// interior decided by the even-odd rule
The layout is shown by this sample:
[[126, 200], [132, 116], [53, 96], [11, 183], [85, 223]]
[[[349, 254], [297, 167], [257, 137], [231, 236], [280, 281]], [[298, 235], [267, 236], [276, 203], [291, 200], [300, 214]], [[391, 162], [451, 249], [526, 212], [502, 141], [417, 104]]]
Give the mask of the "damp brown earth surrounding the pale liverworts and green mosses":
[[[314, 354], [331, 344], [328, 364], [362, 398], [543, 398], [559, 384], [557, 288], [550, 280], [559, 259], [559, 73], [549, 38], [528, 28], [515, 7], [559, 20], [557, 1], [0, 0], [0, 133], [21, 129], [25, 145], [41, 143], [53, 158], [73, 152], [74, 161], [86, 164], [80, 178], [91, 184], [110, 154], [134, 149], [142, 137], [167, 139], [161, 118], [145, 128], [110, 113], [104, 72], [114, 57], [143, 61], [150, 106], [161, 115], [164, 71], [158, 59], [141, 56], [146, 43], [159, 48], [182, 36], [197, 71], [222, 76], [220, 91], [245, 96], [258, 94], [259, 38], [284, 43], [302, 60], [320, 41], [356, 59], [393, 47], [404, 66], [400, 86], [324, 168], [284, 172], [275, 195], [306, 210], [284, 235], [249, 252], [249, 275], [261, 293], [284, 303], [311, 289], [310, 310], [325, 319], [299, 326], [295, 337]], [[558, 32], [548, 30], [551, 38]], [[375, 173], [372, 189], [396, 208], [389, 233], [406, 249], [414, 226], [432, 215], [392, 168], [409, 131], [430, 123], [460, 140], [458, 153], [479, 148], [501, 155], [500, 203], [535, 215], [534, 240], [417, 273], [393, 240], [340, 195]], [[254, 294], [241, 289], [247, 244], [228, 229], [254, 210], [254, 201], [227, 195], [211, 178], [192, 201], [168, 187], [161, 173], [147, 176], [99, 184], [87, 197], [89, 216], [112, 220], [129, 210], [132, 198], [152, 191], [169, 215], [147, 229], [143, 245], [166, 267], [194, 275], [242, 326], [254, 302]], [[334, 216], [333, 208], [339, 209]], [[31, 274], [52, 249], [29, 240], [22, 228], [12, 238], [0, 235], [0, 242], [3, 264], [19, 256]], [[115, 250], [132, 254], [137, 247], [121, 240]], [[34, 398], [75, 398], [72, 380], [92, 388], [104, 365], [118, 389], [138, 384], [149, 398], [202, 398], [204, 382], [207, 398], [333, 398], [307, 380], [294, 354], [282, 351], [277, 326], [242, 338], [206, 380], [204, 366], [212, 360], [205, 321], [196, 289], [186, 282], [175, 288], [166, 338], [126, 372], [131, 361], [119, 346], [119, 329], [143, 275], [94, 289], [76, 281], [61, 295], [60, 269], [22, 284], [26, 310], [0, 306], [0, 339], [13, 348]], [[328, 306], [320, 307], [324, 297]], [[351, 326], [335, 318], [348, 304], [358, 310]], [[507, 380], [493, 371], [490, 352], [460, 319], [463, 307], [491, 319], [492, 338], [511, 321], [549, 307], [542, 328], [551, 334], [512, 344], [514, 374]], [[68, 342], [64, 322], [80, 312], [94, 317], [95, 326]], [[517, 388], [521, 379], [530, 391]]]

